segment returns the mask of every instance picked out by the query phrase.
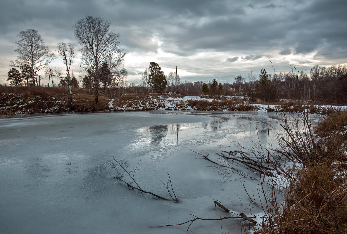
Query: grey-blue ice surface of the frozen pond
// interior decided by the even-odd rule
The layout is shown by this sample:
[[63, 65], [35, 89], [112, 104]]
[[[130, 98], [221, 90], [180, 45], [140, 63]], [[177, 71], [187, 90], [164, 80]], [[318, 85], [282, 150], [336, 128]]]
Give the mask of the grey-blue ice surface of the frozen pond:
[[[271, 129], [280, 129], [277, 114], [270, 113], [270, 118], [268, 114], [132, 112], [2, 118], [0, 232], [185, 233], [187, 225], [157, 226], [185, 222], [193, 217], [190, 214], [228, 216], [214, 210], [213, 199], [235, 212], [249, 213], [240, 180], [218, 182], [222, 176], [211, 162], [191, 150], [214, 157], [215, 152], [230, 151], [231, 141], [246, 146], [258, 137], [263, 141], [269, 123]], [[161, 181], [168, 181], [169, 172], [180, 202], [129, 190], [100, 172], [112, 156], [127, 161], [131, 170], [141, 160], [136, 182], [168, 199]], [[256, 181], [241, 181], [246, 181], [247, 190], [255, 190]], [[223, 233], [239, 222], [223, 220]], [[221, 224], [197, 220], [189, 232], [218, 233]]]

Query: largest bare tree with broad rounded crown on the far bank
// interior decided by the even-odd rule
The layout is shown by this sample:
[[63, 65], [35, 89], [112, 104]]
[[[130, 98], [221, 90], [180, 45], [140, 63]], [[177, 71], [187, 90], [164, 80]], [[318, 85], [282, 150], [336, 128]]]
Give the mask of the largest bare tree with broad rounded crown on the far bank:
[[78, 44], [82, 45], [81, 67], [94, 70], [95, 102], [99, 102], [99, 66], [109, 62], [110, 69], [119, 69], [124, 65], [127, 52], [120, 48], [120, 34], [109, 32], [110, 22], [102, 17], [87, 16], [76, 21], [74, 35]]

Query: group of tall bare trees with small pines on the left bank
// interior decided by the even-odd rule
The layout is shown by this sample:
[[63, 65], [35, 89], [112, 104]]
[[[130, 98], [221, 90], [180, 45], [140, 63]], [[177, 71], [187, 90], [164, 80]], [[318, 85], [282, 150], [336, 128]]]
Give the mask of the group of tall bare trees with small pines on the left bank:
[[[99, 101], [99, 89], [116, 87], [120, 80], [127, 76], [124, 69], [124, 60], [127, 52], [120, 47], [120, 34], [110, 31], [110, 22], [101, 17], [87, 16], [76, 21], [74, 35], [81, 45], [81, 63], [79, 67], [87, 72], [83, 78], [84, 87], [92, 87], [95, 91], [95, 102]], [[74, 46], [71, 43], [61, 42], [57, 45], [56, 52], [66, 65], [66, 76], [61, 76], [61, 71], [51, 69], [49, 64], [56, 59], [44, 40], [35, 29], [27, 29], [17, 35], [20, 40], [15, 41], [17, 59], [11, 61], [14, 67], [8, 72], [10, 85], [40, 85], [36, 72], [45, 69], [49, 78], [61, 78], [59, 86], [68, 86], [70, 90], [70, 105], [73, 105], [71, 81], [78, 86], [78, 81], [70, 77], [70, 67], [75, 59]], [[20, 68], [20, 72], [16, 69]], [[76, 82], [77, 81], [77, 82]]]

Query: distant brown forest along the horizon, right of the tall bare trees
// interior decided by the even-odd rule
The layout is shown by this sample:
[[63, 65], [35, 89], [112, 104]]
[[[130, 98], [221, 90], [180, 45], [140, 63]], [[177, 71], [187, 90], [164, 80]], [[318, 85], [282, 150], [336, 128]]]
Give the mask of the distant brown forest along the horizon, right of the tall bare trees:
[[[273, 74], [262, 70], [260, 74], [253, 71], [248, 76], [238, 75], [234, 82], [219, 83], [214, 87], [217, 79], [212, 81], [182, 82], [178, 77], [176, 83], [176, 72], [170, 72], [168, 85], [165, 92], [177, 92], [181, 95], [203, 95], [203, 84], [208, 86], [209, 92], [206, 95], [222, 97], [224, 95], [234, 95], [248, 97], [251, 101], [260, 99], [265, 102], [278, 101], [278, 99], [301, 99], [319, 101], [319, 103], [347, 103], [347, 64], [332, 65], [331, 67], [321, 67], [315, 65], [310, 73], [298, 71], [294, 64], [290, 66], [288, 72], [275, 72]], [[172, 73], [172, 74], [171, 74]], [[215, 82], [213, 82], [215, 81]], [[151, 88], [134, 83], [119, 86], [124, 92], [143, 93], [153, 92]]]

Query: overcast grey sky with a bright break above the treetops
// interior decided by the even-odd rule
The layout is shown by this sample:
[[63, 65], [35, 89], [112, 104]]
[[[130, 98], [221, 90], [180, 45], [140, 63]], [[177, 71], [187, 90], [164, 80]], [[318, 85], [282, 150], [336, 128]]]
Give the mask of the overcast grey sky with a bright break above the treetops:
[[[269, 60], [278, 72], [294, 63], [309, 74], [315, 64], [347, 62], [346, 9], [346, 0], [3, 0], [0, 83], [16, 59], [20, 31], [36, 29], [53, 52], [59, 42], [77, 50], [72, 26], [87, 15], [103, 17], [120, 33], [129, 83], [141, 83], [150, 62], [166, 75], [177, 66], [183, 81], [247, 80], [251, 70], [273, 73]], [[64, 69], [60, 59], [51, 66]]]

